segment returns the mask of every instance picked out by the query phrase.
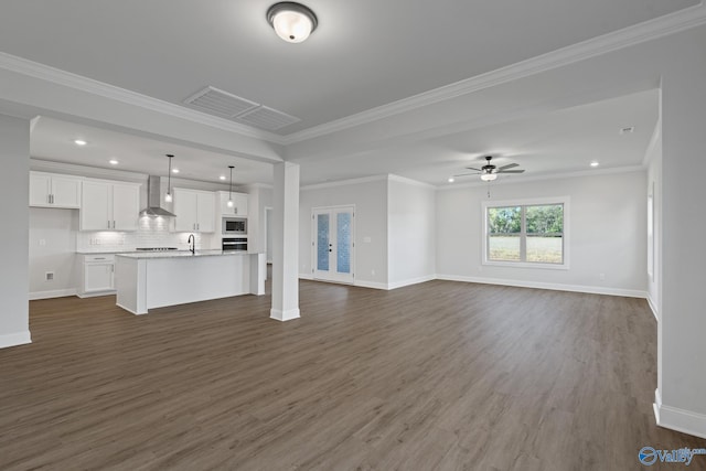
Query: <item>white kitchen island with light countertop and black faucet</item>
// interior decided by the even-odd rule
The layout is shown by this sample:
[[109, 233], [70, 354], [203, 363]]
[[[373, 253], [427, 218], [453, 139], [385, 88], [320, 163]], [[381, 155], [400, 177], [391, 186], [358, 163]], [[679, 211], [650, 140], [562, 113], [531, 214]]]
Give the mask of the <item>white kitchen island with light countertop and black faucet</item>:
[[240, 295], [265, 295], [265, 254], [190, 250], [116, 254], [117, 306], [152, 308]]

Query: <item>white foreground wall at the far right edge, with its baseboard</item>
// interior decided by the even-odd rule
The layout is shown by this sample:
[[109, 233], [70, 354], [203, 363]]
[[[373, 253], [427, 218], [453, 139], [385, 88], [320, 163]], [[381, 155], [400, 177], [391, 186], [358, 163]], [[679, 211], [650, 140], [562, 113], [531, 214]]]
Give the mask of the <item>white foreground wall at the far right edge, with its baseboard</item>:
[[[662, 66], [660, 422], [706, 438], [706, 26], [655, 42]], [[659, 57], [659, 58], [657, 58]], [[628, 60], [630, 60], [628, 57]]]

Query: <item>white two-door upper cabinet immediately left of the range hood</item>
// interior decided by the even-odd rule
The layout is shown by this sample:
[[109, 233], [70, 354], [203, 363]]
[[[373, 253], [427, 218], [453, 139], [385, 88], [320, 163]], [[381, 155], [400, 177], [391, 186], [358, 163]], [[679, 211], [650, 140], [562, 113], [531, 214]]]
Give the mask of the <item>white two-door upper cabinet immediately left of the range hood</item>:
[[85, 180], [81, 205], [81, 231], [137, 231], [140, 185]]

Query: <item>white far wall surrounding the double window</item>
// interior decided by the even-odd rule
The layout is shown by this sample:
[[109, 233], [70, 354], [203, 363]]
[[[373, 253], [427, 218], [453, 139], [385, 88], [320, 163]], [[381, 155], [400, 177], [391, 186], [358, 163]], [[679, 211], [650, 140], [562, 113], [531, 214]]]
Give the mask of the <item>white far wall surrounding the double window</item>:
[[[569, 196], [569, 269], [482, 265], [482, 210], [488, 186], [437, 194], [440, 278], [644, 296], [645, 172], [596, 174], [490, 185], [491, 201]], [[600, 275], [605, 275], [601, 279]]]

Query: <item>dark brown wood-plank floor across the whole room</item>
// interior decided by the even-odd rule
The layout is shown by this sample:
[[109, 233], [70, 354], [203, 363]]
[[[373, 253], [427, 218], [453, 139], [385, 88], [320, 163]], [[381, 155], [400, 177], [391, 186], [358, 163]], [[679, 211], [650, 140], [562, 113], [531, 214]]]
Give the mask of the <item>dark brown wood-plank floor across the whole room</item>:
[[[640, 470], [659, 428], [644, 300], [430, 281], [302, 281], [135, 317], [32, 301], [0, 350], [1, 470]], [[706, 469], [660, 463], [649, 469]]]

